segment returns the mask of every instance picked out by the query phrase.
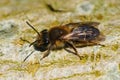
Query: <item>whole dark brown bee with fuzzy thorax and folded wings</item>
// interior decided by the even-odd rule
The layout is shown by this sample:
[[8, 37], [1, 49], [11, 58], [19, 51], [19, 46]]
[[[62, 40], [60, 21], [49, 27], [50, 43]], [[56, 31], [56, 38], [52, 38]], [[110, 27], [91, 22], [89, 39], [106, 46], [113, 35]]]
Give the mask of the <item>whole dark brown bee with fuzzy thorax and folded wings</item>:
[[[81, 59], [76, 47], [99, 44], [99, 41], [102, 40], [101, 32], [96, 28], [99, 25], [98, 22], [69, 23], [55, 26], [50, 30], [44, 29], [41, 32], [38, 32], [29, 22], [26, 23], [37, 33], [36, 40], [30, 43], [30, 46], [33, 45], [37, 51], [46, 51], [40, 60], [47, 57], [51, 50], [57, 49], [64, 49]], [[73, 51], [68, 48], [73, 49]]]

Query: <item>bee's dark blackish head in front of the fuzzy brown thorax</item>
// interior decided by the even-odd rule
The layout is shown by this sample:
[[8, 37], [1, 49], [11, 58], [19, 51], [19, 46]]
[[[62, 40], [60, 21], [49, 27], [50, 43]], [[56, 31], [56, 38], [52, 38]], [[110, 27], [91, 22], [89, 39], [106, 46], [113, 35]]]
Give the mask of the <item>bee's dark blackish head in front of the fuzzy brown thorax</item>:
[[33, 46], [35, 50], [43, 52], [48, 49], [48, 45], [49, 45], [48, 31], [45, 29], [40, 32], [40, 36], [39, 35], [37, 36], [37, 39], [34, 42]]

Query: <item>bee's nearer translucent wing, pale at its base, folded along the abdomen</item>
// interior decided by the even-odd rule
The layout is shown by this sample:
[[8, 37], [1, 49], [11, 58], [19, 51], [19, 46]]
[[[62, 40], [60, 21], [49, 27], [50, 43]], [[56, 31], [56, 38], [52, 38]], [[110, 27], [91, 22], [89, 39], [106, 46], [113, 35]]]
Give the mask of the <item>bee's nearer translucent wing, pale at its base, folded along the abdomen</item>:
[[98, 41], [104, 41], [105, 40], [105, 36], [100, 34], [98, 36], [94, 36], [94, 34], [92, 34], [92, 31], [89, 32], [83, 32], [83, 31], [75, 31], [75, 32], [71, 32], [65, 36], [62, 36], [63, 40], [70, 40], [70, 41], [94, 41], [94, 40], [98, 40]]

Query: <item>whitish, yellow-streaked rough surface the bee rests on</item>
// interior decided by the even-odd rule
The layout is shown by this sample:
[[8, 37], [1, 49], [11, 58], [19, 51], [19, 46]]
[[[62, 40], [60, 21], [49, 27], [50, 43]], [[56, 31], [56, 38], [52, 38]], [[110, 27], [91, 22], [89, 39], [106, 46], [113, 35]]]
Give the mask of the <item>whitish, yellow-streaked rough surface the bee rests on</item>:
[[[48, 5], [55, 10], [53, 12]], [[120, 0], [0, 0], [0, 80], [120, 80]], [[78, 48], [78, 57], [52, 51], [42, 61], [41, 52], [23, 59], [33, 47], [38, 31], [69, 22], [97, 21], [106, 36], [103, 46]]]

